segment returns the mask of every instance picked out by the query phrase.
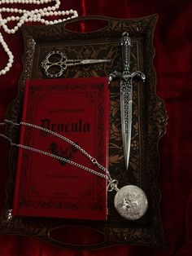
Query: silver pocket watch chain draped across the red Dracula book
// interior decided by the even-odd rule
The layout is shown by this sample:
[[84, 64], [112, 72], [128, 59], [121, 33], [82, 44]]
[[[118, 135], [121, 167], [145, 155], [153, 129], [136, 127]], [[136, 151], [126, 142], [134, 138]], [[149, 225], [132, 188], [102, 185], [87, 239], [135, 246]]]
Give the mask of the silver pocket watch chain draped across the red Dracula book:
[[16, 123], [15, 121], [11, 121], [11, 120], [8, 120], [8, 119], [5, 119], [5, 122], [4, 123], [0, 123], [0, 126], [3, 126], [5, 125], [6, 123], [10, 123], [14, 126], [29, 126], [29, 127], [32, 127], [32, 128], [35, 128], [37, 130], [42, 130], [42, 131], [45, 131], [46, 133], [49, 133], [50, 135], [54, 135], [56, 137], [58, 137], [59, 139], [63, 139], [64, 141], [70, 143], [72, 146], [74, 146], [75, 148], [77, 148], [79, 151], [81, 151], [86, 157], [89, 158], [89, 160], [96, 166], [98, 166], [99, 169], [105, 171], [106, 174], [101, 174], [99, 173], [98, 171], [96, 170], [93, 170], [93, 169], [90, 169], [89, 167], [87, 166], [82, 166], [81, 164], [78, 164], [74, 161], [71, 161], [71, 160], [68, 160], [67, 158], [64, 158], [64, 157], [59, 157], [59, 156], [56, 156], [55, 154], [52, 154], [50, 152], [45, 152], [41, 149], [38, 149], [38, 148], [31, 148], [29, 146], [26, 146], [26, 145], [22, 145], [22, 144], [16, 144], [16, 143], [13, 143], [12, 140], [7, 137], [6, 135], [2, 135], [0, 134], [0, 136], [2, 136], [4, 139], [7, 139], [9, 140], [9, 142], [11, 143], [12, 146], [16, 146], [18, 148], [24, 148], [26, 150], [30, 150], [30, 151], [33, 151], [33, 152], [37, 152], [37, 153], [40, 153], [42, 155], [45, 155], [45, 156], [48, 156], [48, 157], [53, 157], [55, 159], [58, 159], [60, 161], [65, 161], [67, 162], [68, 164], [72, 165], [72, 166], [76, 166], [77, 168], [81, 168], [82, 170], [86, 170], [86, 171], [89, 171], [90, 173], [92, 174], [96, 174], [98, 175], [99, 177], [102, 177], [104, 179], [107, 179], [108, 181], [108, 186], [107, 186], [107, 190], [108, 191], [112, 191], [113, 189], [117, 190], [117, 180], [116, 179], [111, 179], [111, 175], [109, 173], [109, 171], [104, 167], [102, 166], [101, 164], [98, 163], [98, 161], [89, 155], [88, 152], [85, 151], [85, 149], [81, 148], [79, 145], [77, 145], [76, 143], [74, 143], [71, 139], [68, 139], [66, 138], [65, 136], [63, 135], [59, 135], [57, 134], [55, 131], [52, 131], [52, 130], [48, 130], [44, 127], [41, 127], [41, 126], [37, 126], [37, 125], [33, 125], [31, 123], [28, 123], [28, 122], [24, 122], [24, 121], [20, 121], [20, 123]]

